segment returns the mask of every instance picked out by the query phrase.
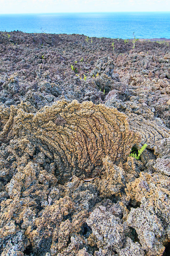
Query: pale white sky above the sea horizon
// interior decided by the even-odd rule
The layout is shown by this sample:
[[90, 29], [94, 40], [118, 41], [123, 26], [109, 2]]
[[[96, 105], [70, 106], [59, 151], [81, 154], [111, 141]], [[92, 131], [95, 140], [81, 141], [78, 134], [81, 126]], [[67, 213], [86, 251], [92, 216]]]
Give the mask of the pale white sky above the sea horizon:
[[0, 0], [0, 14], [170, 12], [170, 0]]

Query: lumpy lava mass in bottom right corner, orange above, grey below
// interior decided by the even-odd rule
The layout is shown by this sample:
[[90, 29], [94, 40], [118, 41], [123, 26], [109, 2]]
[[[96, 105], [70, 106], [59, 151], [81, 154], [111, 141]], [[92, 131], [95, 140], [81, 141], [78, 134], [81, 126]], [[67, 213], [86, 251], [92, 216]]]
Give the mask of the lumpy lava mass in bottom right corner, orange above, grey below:
[[125, 189], [131, 200], [140, 207], [131, 208], [128, 224], [135, 228], [139, 241], [148, 255], [162, 255], [170, 239], [169, 177], [158, 173], [140, 173], [140, 177]]

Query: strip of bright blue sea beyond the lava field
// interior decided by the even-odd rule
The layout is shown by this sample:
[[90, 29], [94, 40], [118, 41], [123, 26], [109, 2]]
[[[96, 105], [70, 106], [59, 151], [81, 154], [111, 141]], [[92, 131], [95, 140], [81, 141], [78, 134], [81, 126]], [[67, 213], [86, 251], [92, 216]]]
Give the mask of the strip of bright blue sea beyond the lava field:
[[170, 12], [1, 14], [0, 30], [111, 38], [170, 38]]

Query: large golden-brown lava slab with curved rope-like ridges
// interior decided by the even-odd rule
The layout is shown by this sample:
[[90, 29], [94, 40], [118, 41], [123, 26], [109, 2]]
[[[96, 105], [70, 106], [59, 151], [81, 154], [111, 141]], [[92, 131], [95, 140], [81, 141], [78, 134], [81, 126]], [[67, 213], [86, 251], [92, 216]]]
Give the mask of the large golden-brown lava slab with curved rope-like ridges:
[[[4, 108], [0, 113], [2, 120], [6, 111]], [[63, 100], [36, 114], [30, 111], [29, 104], [23, 102], [17, 108], [11, 107], [8, 121], [3, 122], [1, 140], [5, 136], [21, 139], [17, 139], [18, 147], [13, 148], [18, 157], [24, 152], [33, 157], [38, 148], [54, 161], [57, 177], [62, 182], [74, 174], [99, 173], [106, 155], [115, 163], [125, 160], [139, 141], [129, 131], [126, 116], [104, 105]], [[28, 141], [33, 145], [32, 152], [25, 147]]]

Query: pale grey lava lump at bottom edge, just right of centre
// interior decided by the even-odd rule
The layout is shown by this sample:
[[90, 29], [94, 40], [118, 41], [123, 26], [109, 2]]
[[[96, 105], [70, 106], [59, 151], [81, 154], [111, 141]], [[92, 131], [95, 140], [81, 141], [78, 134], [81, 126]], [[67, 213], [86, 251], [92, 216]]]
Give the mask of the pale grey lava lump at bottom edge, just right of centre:
[[127, 236], [127, 223], [107, 212], [105, 207], [100, 205], [96, 208], [87, 219], [87, 224], [92, 228], [100, 248], [99, 252], [96, 251], [94, 255], [144, 255], [140, 244], [133, 243]]

